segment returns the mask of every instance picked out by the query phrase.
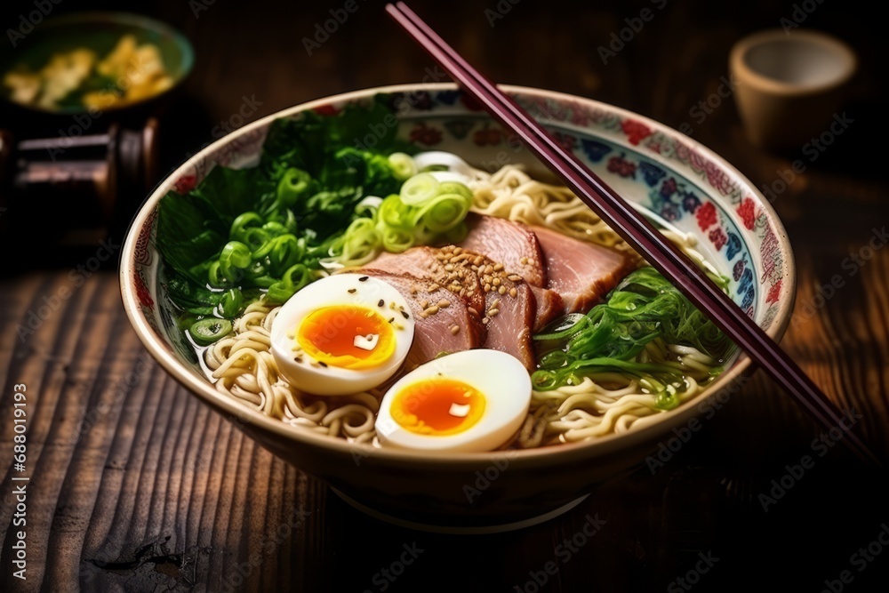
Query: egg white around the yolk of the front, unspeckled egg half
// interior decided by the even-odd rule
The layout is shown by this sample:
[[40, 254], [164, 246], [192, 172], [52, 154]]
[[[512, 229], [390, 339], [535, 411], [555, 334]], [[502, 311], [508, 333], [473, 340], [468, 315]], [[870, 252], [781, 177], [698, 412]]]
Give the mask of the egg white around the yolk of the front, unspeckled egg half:
[[[453, 435], [420, 435], [392, 417], [392, 403], [404, 388], [420, 381], [462, 381], [485, 397], [485, 412], [469, 429]], [[516, 357], [500, 350], [471, 349], [436, 358], [396, 381], [380, 403], [375, 428], [380, 445], [441, 452], [493, 451], [522, 426], [531, 405], [531, 377]]]

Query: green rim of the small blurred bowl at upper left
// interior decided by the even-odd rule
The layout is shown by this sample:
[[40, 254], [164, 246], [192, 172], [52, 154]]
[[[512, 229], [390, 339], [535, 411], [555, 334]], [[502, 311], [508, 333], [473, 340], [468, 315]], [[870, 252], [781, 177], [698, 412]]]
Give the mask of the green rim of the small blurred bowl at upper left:
[[[71, 12], [69, 14], [61, 14], [59, 16], [52, 16], [46, 19], [40, 26], [42, 30], [51, 29], [51, 28], [71, 28], [71, 26], [83, 25], [83, 24], [102, 24], [102, 23], [110, 23], [114, 25], [123, 25], [124, 27], [129, 27], [133, 29], [140, 29], [143, 31], [153, 31], [160, 35], [169, 36], [172, 38], [176, 46], [179, 47], [179, 50], [182, 54], [182, 60], [180, 64], [180, 74], [173, 79], [173, 84], [164, 89], [161, 92], [157, 92], [153, 95], [148, 95], [147, 97], [143, 97], [140, 100], [134, 100], [124, 105], [110, 105], [107, 108], [103, 108], [103, 112], [121, 112], [127, 109], [140, 107], [141, 105], [148, 103], [148, 101], [156, 100], [160, 97], [163, 97], [166, 94], [169, 94], [174, 89], [178, 88], [182, 81], [188, 78], [188, 75], [191, 74], [192, 68], [195, 65], [195, 49], [191, 44], [191, 41], [188, 40], [188, 37], [185, 36], [179, 29], [172, 27], [172, 25], [164, 22], [163, 20], [157, 20], [152, 17], [145, 16], [144, 14], [137, 14], [136, 12], [116, 12], [116, 11], [87, 11], [87, 12]], [[13, 63], [9, 64], [9, 67], [12, 68], [14, 66]], [[79, 108], [75, 106], [66, 106], [58, 109], [47, 109], [38, 107], [36, 105], [26, 105], [23, 103], [17, 103], [12, 101], [6, 97], [3, 98], [6, 103], [11, 105], [15, 105], [16, 107], [28, 109], [28, 111], [34, 111], [36, 113], [45, 113], [54, 116], [75, 116], [78, 114], [86, 113], [89, 111], [89, 108]], [[221, 139], [220, 139], [221, 140]]]

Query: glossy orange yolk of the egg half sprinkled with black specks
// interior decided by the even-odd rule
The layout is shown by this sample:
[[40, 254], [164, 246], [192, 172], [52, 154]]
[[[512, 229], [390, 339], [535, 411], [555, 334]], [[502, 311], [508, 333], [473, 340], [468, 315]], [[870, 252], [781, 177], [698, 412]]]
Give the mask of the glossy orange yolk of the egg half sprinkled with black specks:
[[375, 368], [395, 353], [392, 326], [378, 312], [358, 305], [312, 311], [300, 324], [296, 341], [319, 363], [344, 369]]

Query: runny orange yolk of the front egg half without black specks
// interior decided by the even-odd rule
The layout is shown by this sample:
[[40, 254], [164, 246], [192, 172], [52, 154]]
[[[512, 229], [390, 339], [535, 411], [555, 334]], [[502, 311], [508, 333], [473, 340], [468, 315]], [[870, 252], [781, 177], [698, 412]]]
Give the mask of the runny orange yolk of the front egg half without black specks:
[[485, 413], [485, 396], [453, 379], [428, 379], [398, 392], [392, 418], [419, 435], [445, 436], [463, 432]]

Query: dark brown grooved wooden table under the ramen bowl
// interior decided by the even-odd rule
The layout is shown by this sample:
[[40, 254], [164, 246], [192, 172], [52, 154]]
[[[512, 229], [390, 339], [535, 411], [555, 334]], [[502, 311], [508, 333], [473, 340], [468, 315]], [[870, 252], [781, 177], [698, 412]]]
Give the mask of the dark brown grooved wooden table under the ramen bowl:
[[[67, 4], [54, 10], [115, 5]], [[865, 4], [797, 3], [807, 7], [797, 14], [805, 27], [836, 33], [861, 59], [844, 107], [853, 124], [809, 160], [802, 147], [752, 146], [733, 98], [714, 99], [733, 42], [792, 19], [789, 0], [411, 4], [495, 80], [688, 124], [757, 186], [805, 158], [805, 172], [773, 202], [798, 266], [795, 322], [782, 346], [837, 405], [861, 415], [861, 434], [889, 457], [886, 44], [877, 15]], [[32, 10], [20, 5], [7, 7], [4, 29]], [[164, 170], [213, 140], [245, 98], [255, 104], [252, 120], [336, 92], [422, 79], [431, 62], [380, 2], [358, 0], [308, 56], [300, 39], [341, 5], [132, 4], [180, 28], [196, 48], [181, 103], [162, 123]], [[599, 46], [645, 7], [653, 19], [603, 63]], [[502, 18], [492, 27], [494, 13]], [[709, 113], [693, 110], [701, 100], [711, 101]], [[0, 216], [14, 216], [8, 207]], [[39, 220], [22, 224], [41, 237]], [[112, 242], [122, 233], [112, 229]], [[114, 262], [89, 277], [72, 272], [90, 249], [51, 258], [24, 242], [5, 249], [0, 264], [2, 590], [886, 590], [885, 471], [841, 446], [813, 445], [821, 429], [761, 372], [662, 467], [603, 485], [561, 517], [497, 535], [413, 532], [365, 517], [191, 397], [132, 331]], [[837, 275], [844, 285], [819, 297]], [[32, 315], [36, 329], [21, 332]], [[27, 386], [24, 472], [12, 464], [19, 384]], [[806, 454], [813, 467], [797, 468]], [[23, 484], [24, 513], [16, 500]], [[566, 560], [565, 541], [595, 514], [607, 523]], [[20, 530], [26, 581], [14, 576]], [[405, 546], [417, 556], [406, 566], [398, 564]], [[555, 574], [545, 572], [549, 562]]]

